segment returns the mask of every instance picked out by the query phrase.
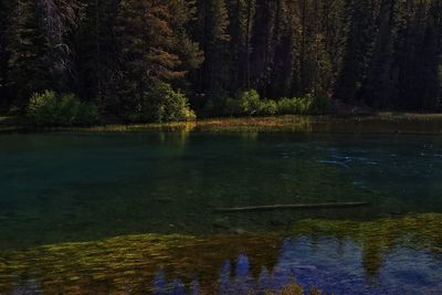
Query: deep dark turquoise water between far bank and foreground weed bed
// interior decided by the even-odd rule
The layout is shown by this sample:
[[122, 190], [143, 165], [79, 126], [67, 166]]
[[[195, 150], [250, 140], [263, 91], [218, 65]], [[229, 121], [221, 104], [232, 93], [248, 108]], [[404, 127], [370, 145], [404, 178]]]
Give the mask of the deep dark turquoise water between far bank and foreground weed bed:
[[[442, 138], [298, 134], [0, 136], [0, 249], [131, 233], [281, 230], [442, 212]], [[218, 207], [370, 201], [220, 214]]]

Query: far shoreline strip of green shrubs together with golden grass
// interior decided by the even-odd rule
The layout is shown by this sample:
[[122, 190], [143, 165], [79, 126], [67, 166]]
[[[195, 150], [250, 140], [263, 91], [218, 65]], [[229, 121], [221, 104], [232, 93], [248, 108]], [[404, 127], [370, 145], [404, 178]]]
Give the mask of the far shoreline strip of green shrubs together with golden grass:
[[[109, 116], [72, 93], [34, 93], [19, 116], [0, 116], [0, 131], [136, 131], [180, 129], [211, 131], [318, 131], [441, 134], [442, 114], [375, 113], [326, 96], [269, 99], [255, 89], [209, 99], [198, 114], [188, 97], [166, 83], [144, 93], [130, 110]], [[198, 119], [197, 119], [198, 116]]]

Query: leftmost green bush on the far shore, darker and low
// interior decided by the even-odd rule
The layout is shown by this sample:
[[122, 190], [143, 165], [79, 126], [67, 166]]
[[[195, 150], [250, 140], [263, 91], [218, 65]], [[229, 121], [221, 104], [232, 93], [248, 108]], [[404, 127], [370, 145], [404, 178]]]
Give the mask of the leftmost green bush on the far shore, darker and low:
[[27, 114], [38, 126], [90, 126], [98, 122], [94, 105], [82, 103], [74, 94], [53, 91], [33, 94]]

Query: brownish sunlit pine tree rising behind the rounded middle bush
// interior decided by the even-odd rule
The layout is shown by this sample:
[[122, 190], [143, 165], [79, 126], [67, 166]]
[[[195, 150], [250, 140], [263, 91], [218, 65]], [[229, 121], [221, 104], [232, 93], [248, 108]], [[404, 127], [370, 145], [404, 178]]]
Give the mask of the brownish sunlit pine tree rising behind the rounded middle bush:
[[117, 105], [137, 109], [145, 93], [162, 81], [183, 77], [173, 53], [168, 1], [122, 0], [115, 35], [118, 42]]

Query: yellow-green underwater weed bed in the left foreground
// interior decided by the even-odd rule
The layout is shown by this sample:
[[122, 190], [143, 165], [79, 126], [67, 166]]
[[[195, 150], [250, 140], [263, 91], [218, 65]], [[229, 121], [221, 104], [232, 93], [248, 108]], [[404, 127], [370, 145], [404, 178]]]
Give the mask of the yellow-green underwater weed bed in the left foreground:
[[140, 293], [151, 289], [157, 272], [201, 287], [212, 288], [217, 271], [238, 251], [251, 257], [261, 243], [274, 244], [273, 252], [256, 254], [256, 270], [277, 257], [277, 238], [220, 235], [197, 239], [183, 235], [129, 235], [88, 243], [55, 244], [9, 253], [0, 268], [0, 293], [28, 281], [40, 282], [48, 294], [88, 291], [91, 293]]

